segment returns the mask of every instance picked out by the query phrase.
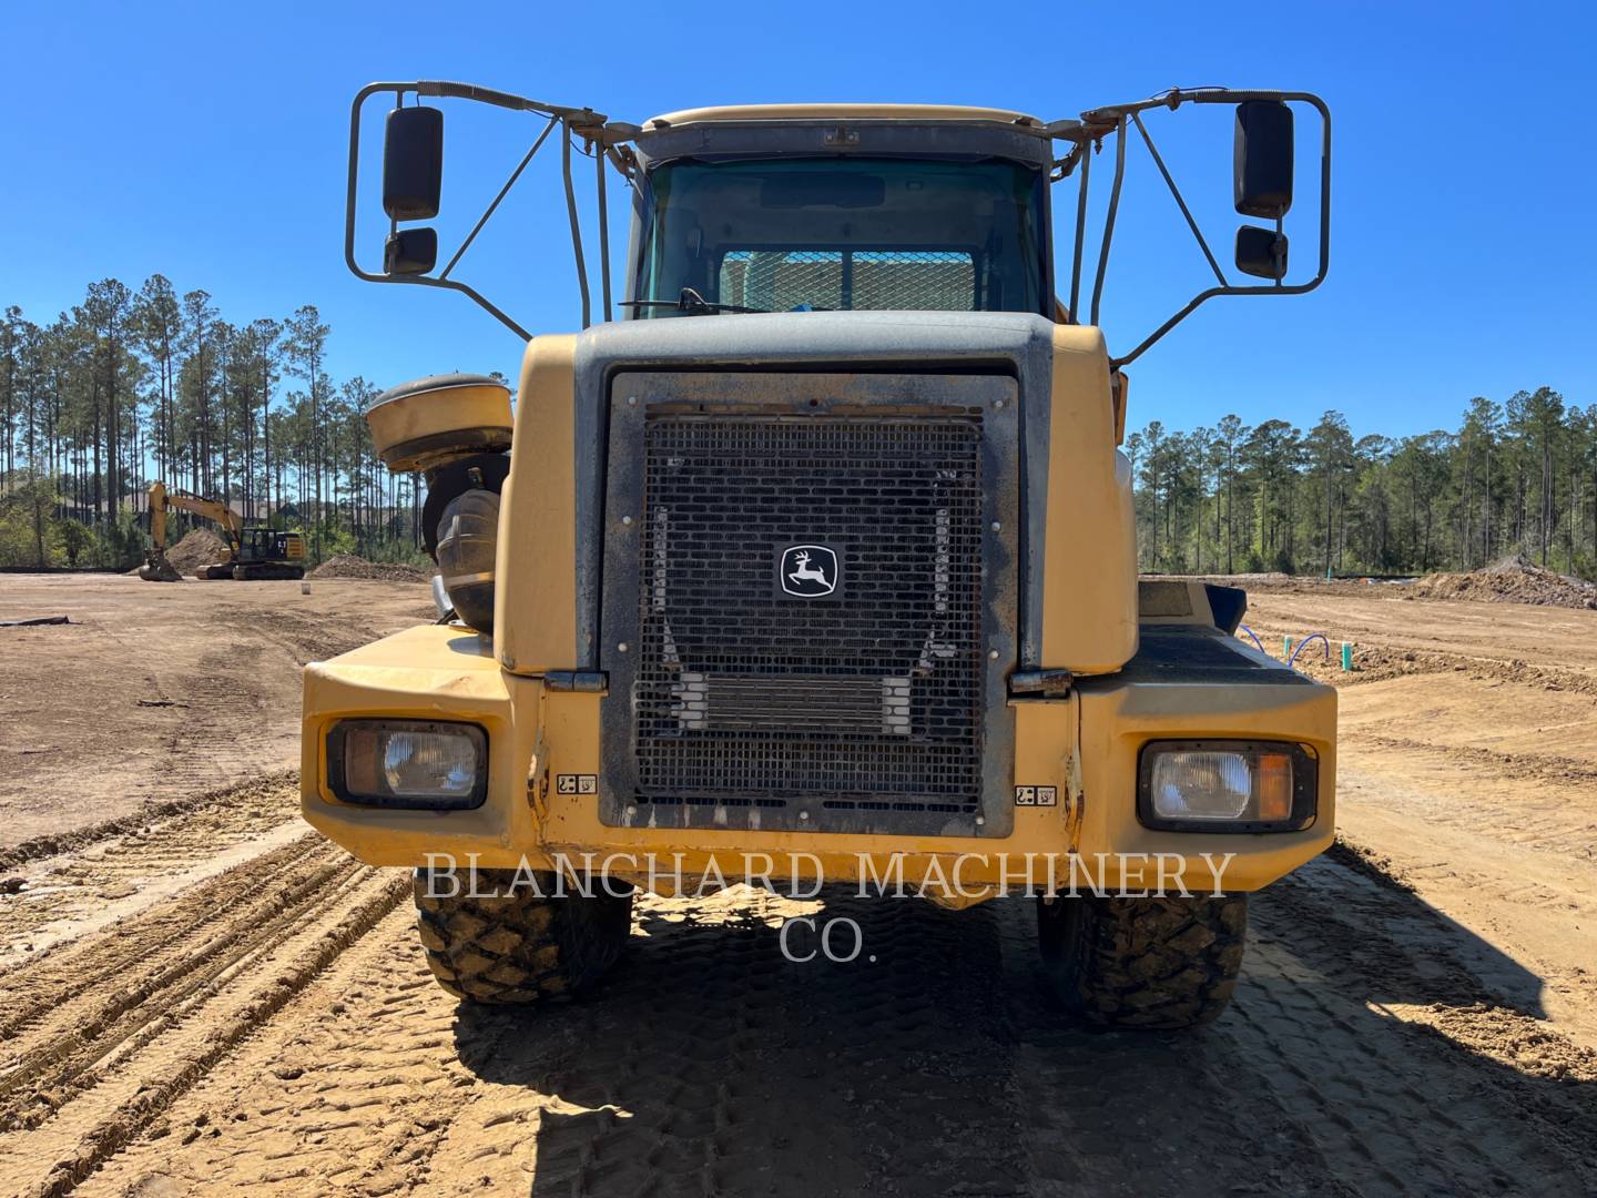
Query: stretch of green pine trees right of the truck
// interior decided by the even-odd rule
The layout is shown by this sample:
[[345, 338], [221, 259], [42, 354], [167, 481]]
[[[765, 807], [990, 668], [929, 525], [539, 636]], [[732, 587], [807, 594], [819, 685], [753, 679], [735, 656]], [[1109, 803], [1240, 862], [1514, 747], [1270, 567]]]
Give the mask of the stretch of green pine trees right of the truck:
[[1597, 575], [1597, 404], [1471, 399], [1455, 431], [1354, 438], [1226, 415], [1126, 438], [1143, 570], [1425, 573], [1511, 554]]

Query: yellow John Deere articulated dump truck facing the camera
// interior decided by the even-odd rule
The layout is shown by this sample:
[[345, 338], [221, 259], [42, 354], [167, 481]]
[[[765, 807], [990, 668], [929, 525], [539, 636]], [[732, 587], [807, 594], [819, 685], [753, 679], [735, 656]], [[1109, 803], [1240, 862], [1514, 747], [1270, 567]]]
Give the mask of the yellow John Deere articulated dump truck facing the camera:
[[[393, 107], [367, 270], [374, 96]], [[439, 211], [446, 101], [535, 128], [436, 270], [418, 222]], [[1234, 112], [1225, 201], [1250, 217], [1234, 268], [1254, 281], [1222, 270], [1151, 137], [1203, 105]], [[1321, 142], [1302, 281], [1295, 118]], [[532, 337], [452, 270], [549, 137], [583, 327]], [[1113, 356], [1097, 323], [1132, 139], [1215, 284]], [[1094, 158], [1113, 179], [1089, 240]], [[1329, 171], [1306, 93], [1169, 91], [1052, 123], [800, 104], [628, 125], [463, 83], [363, 89], [350, 268], [458, 291], [525, 351], [514, 409], [492, 377], [436, 375], [367, 412], [388, 466], [426, 478], [450, 618], [307, 668], [305, 818], [415, 869], [426, 958], [466, 1000], [591, 987], [639, 888], [832, 883], [1033, 901], [1073, 1016], [1214, 1019], [1249, 893], [1332, 842], [1337, 700], [1233, 636], [1241, 591], [1139, 583], [1124, 367], [1207, 299], [1314, 288]], [[607, 187], [634, 214], [615, 299]]]

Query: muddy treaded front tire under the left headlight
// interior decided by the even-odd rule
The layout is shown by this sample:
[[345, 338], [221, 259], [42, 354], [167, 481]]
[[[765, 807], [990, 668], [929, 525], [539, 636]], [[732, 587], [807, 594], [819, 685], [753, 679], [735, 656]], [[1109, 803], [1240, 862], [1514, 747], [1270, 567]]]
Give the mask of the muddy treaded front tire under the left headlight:
[[[417, 931], [438, 984], [476, 1003], [538, 1003], [591, 989], [615, 965], [632, 930], [632, 896], [594, 882], [585, 898], [554, 874], [537, 887], [509, 869], [417, 869]], [[447, 879], [447, 880], [446, 880]], [[433, 895], [454, 891], [452, 898]]]

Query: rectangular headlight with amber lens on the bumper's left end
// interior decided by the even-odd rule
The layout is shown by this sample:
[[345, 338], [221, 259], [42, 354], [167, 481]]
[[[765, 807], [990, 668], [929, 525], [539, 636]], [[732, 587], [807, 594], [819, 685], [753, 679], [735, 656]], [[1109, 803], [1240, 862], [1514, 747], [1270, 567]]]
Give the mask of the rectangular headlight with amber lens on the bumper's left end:
[[476, 724], [340, 720], [327, 733], [327, 784], [343, 802], [367, 807], [481, 807], [487, 749]]

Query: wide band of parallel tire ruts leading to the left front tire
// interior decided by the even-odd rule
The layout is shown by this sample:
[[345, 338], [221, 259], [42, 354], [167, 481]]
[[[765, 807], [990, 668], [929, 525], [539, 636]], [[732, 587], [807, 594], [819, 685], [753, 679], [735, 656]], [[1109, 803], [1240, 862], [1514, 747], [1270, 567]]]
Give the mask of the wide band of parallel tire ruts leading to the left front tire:
[[[203, 842], [206, 815], [166, 831]], [[141, 843], [118, 845], [123, 872], [134, 872]], [[150, 869], [168, 863], [169, 850], [147, 855]], [[300, 832], [13, 968], [0, 979], [0, 1192], [70, 1192], [270, 1025], [404, 893], [393, 871]]]

